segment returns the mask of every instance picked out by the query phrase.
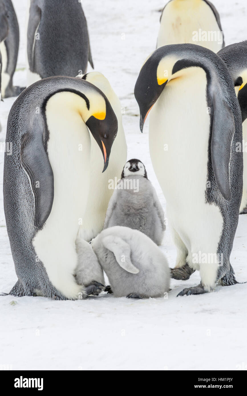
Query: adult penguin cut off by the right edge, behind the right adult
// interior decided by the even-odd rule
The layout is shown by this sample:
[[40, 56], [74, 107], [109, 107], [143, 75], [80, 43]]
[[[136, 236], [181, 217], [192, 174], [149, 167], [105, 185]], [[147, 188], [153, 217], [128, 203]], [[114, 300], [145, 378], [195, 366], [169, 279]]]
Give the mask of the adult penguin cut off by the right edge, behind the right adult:
[[221, 49], [218, 55], [226, 63], [232, 76], [242, 113], [243, 141], [237, 143], [236, 150], [243, 152], [243, 196], [240, 213], [247, 213], [247, 40]]

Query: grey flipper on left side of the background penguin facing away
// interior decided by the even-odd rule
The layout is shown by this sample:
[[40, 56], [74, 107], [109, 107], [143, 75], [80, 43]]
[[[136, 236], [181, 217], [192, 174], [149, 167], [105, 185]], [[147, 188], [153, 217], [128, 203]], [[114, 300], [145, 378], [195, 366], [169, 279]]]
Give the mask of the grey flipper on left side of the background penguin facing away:
[[35, 72], [34, 68], [34, 46], [35, 46], [35, 34], [37, 33], [38, 25], [41, 20], [41, 9], [36, 4], [36, 1], [31, 3], [29, 11], [29, 21], [27, 28], [27, 59], [29, 63], [29, 69], [31, 72]]

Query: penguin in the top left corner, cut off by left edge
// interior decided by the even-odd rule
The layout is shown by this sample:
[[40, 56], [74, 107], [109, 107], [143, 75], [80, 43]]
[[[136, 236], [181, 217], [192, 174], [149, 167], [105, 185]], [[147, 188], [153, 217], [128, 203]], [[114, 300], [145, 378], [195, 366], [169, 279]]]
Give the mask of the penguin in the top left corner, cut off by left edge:
[[[13, 86], [19, 50], [19, 25], [11, 0], [0, 0], [0, 51], [2, 54], [2, 97], [18, 96], [24, 87]], [[7, 33], [7, 34], [6, 34]]]

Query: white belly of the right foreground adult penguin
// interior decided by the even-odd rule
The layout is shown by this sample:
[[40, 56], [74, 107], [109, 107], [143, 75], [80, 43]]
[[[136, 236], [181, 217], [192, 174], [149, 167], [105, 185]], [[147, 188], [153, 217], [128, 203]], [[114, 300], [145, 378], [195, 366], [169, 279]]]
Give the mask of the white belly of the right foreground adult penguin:
[[[193, 259], [200, 251], [217, 252], [223, 227], [220, 209], [205, 202], [209, 128], [206, 75], [190, 68], [185, 78], [167, 84], [153, 106], [149, 147], [167, 201], [168, 224], [181, 238], [181, 250], [182, 245], [188, 250], [188, 263], [200, 268], [206, 288], [214, 284], [218, 266]], [[178, 242], [176, 246], [179, 254]]]

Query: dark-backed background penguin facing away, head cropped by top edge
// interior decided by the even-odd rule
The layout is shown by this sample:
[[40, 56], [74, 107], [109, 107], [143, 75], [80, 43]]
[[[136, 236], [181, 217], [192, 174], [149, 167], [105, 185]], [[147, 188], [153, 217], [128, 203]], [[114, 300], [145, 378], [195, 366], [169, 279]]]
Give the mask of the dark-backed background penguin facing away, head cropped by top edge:
[[[30, 2], [30, 0], [29, 0]], [[27, 27], [28, 84], [94, 67], [88, 27], [78, 0], [31, 0]]]

